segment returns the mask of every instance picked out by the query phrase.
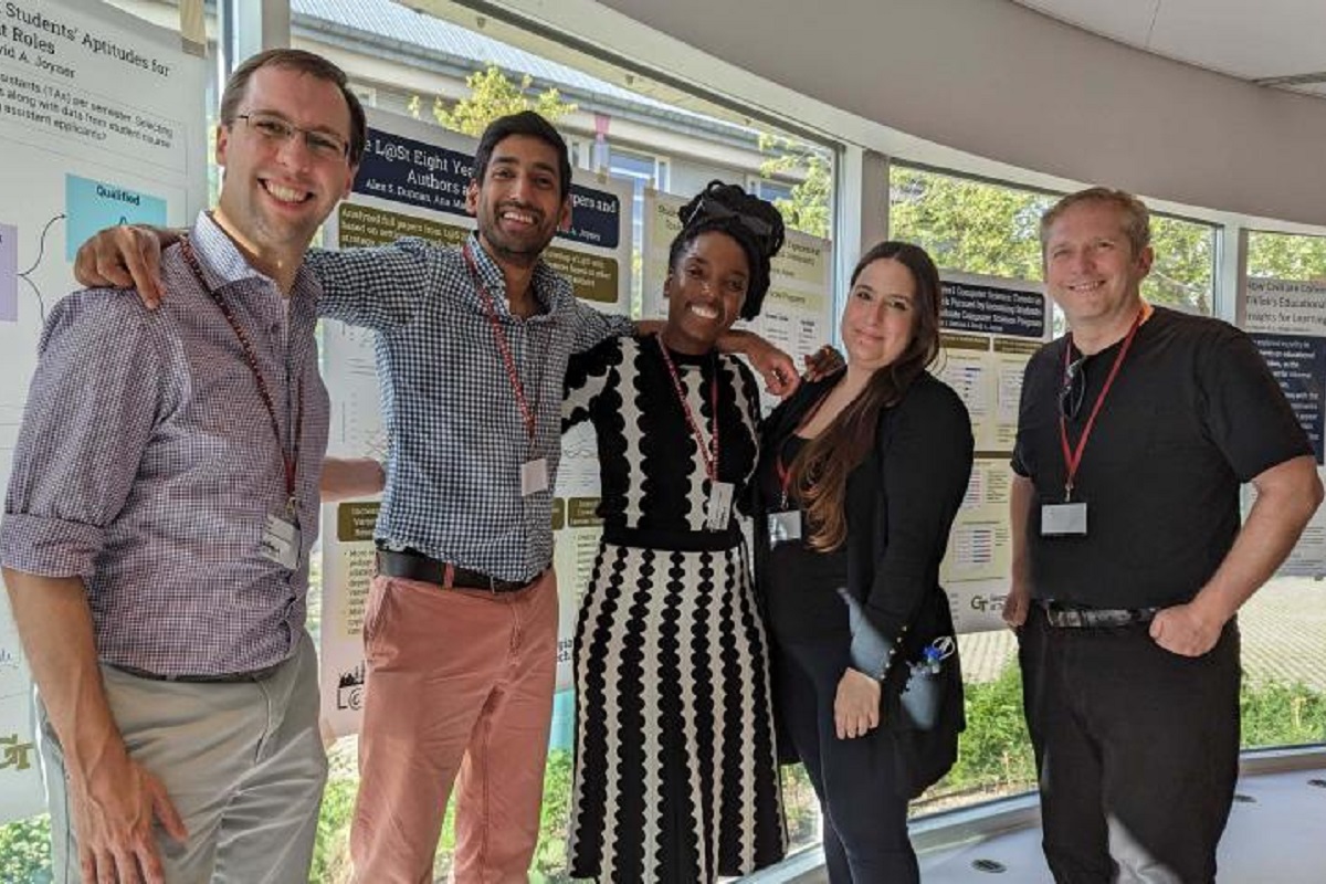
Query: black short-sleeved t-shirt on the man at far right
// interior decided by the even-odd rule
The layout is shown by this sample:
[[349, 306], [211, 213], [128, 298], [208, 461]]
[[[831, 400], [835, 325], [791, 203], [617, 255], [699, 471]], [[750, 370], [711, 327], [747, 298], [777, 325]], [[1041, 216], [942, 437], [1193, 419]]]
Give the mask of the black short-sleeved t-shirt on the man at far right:
[[[1032, 595], [1102, 608], [1192, 599], [1238, 531], [1238, 485], [1311, 445], [1252, 341], [1233, 326], [1158, 307], [1138, 329], [1087, 439], [1073, 500], [1085, 537], [1042, 537], [1041, 504], [1063, 500], [1059, 440], [1066, 338], [1032, 357], [1013, 469], [1036, 485]], [[1075, 448], [1120, 343], [1083, 362]], [[1077, 353], [1073, 354], [1078, 355]]]

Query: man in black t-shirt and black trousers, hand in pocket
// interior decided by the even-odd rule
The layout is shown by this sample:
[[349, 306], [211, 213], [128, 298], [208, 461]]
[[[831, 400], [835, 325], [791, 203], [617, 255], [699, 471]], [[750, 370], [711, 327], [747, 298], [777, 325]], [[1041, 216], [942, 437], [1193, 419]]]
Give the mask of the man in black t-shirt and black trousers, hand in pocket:
[[[1150, 219], [1091, 188], [1041, 219], [1069, 333], [1028, 363], [1012, 488], [1026, 720], [1057, 881], [1213, 881], [1238, 773], [1236, 612], [1322, 498], [1248, 335], [1142, 300]], [[1257, 500], [1240, 527], [1238, 486]]]

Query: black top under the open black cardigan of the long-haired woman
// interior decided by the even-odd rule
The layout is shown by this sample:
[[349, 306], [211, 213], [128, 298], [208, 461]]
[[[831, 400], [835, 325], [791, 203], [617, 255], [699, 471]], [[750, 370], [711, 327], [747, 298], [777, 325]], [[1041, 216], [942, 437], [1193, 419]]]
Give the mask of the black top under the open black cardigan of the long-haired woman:
[[[781, 440], [765, 437], [764, 443], [777, 448], [760, 459], [756, 481], [760, 482], [761, 500], [769, 501], [769, 512], [773, 513], [782, 509], [777, 457], [781, 453], [784, 467], [790, 469], [806, 440], [789, 432]], [[788, 509], [796, 510], [797, 501], [789, 500]], [[806, 539], [802, 537], [768, 549], [766, 526], [754, 526], [754, 542], [762, 543], [768, 555], [761, 586], [766, 622], [773, 637], [784, 643], [847, 635], [847, 606], [838, 596], [839, 587], [847, 584], [847, 553], [842, 549], [819, 553], [808, 546]]]

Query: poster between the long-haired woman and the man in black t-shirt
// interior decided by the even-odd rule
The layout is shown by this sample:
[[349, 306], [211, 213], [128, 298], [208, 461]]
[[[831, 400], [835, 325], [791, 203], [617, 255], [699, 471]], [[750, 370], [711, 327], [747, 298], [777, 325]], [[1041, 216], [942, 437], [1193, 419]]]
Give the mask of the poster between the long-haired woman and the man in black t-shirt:
[[944, 273], [941, 350], [934, 371], [967, 404], [976, 459], [953, 520], [940, 583], [959, 632], [1002, 628], [1013, 538], [1009, 459], [1026, 362], [1049, 334], [1041, 286], [1020, 280]]

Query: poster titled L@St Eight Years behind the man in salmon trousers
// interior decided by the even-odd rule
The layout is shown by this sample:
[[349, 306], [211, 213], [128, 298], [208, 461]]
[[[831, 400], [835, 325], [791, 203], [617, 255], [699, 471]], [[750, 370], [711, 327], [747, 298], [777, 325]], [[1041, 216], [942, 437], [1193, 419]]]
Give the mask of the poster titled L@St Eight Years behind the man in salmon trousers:
[[[476, 142], [432, 125], [369, 115], [369, 140], [354, 191], [324, 227], [330, 248], [355, 248], [419, 236], [460, 245], [475, 228], [465, 212]], [[631, 187], [578, 171], [572, 186], [572, 229], [544, 253], [572, 281], [577, 297], [610, 313], [630, 311]], [[389, 440], [378, 407], [373, 333], [324, 325], [324, 364], [332, 391], [333, 456], [385, 460]], [[572, 684], [575, 608], [593, 569], [598, 539], [598, 461], [593, 429], [564, 439], [554, 489], [554, 565], [561, 594], [558, 688]], [[324, 508], [322, 712], [330, 733], [358, 730], [363, 702], [363, 608], [374, 573], [377, 501]]]

